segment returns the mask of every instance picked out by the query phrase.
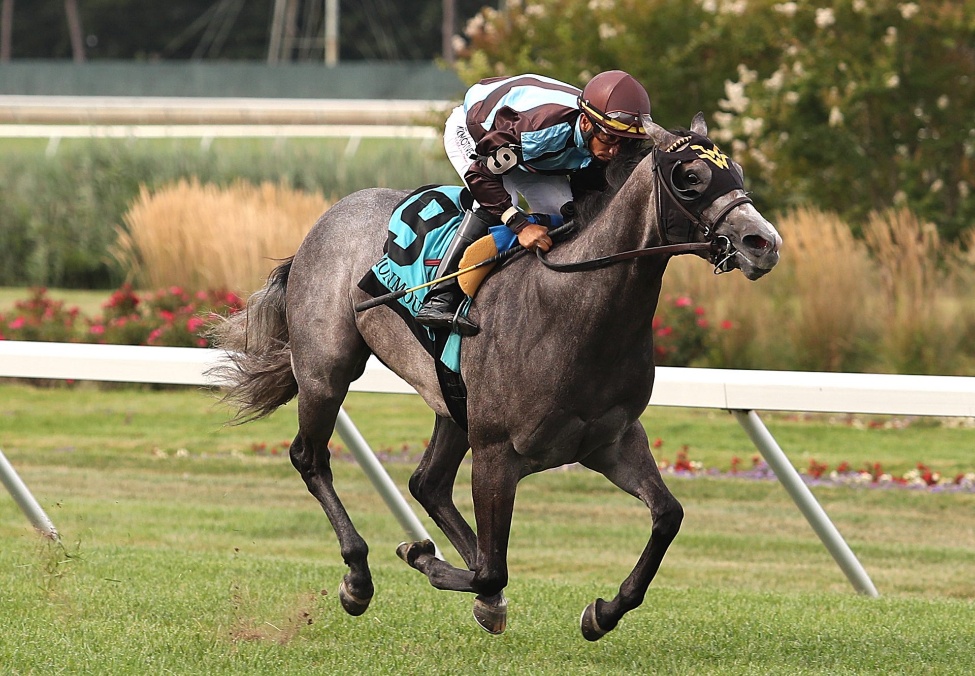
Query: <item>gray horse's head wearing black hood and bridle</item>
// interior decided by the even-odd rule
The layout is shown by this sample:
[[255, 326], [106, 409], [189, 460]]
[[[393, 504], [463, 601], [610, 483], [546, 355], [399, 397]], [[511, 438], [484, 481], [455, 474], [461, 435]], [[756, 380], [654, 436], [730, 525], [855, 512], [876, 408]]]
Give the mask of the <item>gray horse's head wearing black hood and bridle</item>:
[[708, 139], [703, 113], [690, 130], [668, 132], [643, 117], [653, 140], [653, 163], [660, 198], [661, 226], [667, 239], [711, 241], [716, 272], [738, 268], [759, 279], [779, 261], [782, 237], [752, 204], [741, 165]]

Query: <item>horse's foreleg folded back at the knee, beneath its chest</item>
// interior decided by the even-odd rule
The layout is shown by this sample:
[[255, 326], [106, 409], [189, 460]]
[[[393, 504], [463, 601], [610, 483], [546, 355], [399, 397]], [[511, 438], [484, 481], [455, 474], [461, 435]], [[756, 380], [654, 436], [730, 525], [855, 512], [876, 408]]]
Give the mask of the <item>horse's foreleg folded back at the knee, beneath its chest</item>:
[[507, 601], [502, 590], [508, 583], [508, 537], [515, 490], [521, 478], [521, 457], [510, 447], [485, 449], [475, 454], [471, 474], [478, 525], [473, 570], [463, 571], [438, 559], [429, 540], [403, 543], [397, 554], [438, 589], [476, 593], [474, 617], [488, 632], [500, 634], [507, 623]]

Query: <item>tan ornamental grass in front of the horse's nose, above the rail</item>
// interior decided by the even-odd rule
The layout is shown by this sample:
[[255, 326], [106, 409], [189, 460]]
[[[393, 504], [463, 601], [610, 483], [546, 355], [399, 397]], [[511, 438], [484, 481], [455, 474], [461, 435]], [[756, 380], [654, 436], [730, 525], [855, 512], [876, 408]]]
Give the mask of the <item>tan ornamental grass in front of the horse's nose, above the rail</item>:
[[757, 282], [703, 274], [695, 257], [668, 266], [665, 291], [735, 328], [698, 366], [975, 374], [975, 235], [947, 245], [906, 209], [872, 214], [863, 238], [814, 208], [775, 225], [782, 258]]

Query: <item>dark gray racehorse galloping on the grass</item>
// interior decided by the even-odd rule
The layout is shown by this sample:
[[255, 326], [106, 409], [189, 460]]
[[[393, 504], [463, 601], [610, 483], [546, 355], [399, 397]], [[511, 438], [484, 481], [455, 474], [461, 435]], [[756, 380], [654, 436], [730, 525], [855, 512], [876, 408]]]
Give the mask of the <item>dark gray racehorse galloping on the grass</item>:
[[[583, 209], [578, 234], [550, 253], [552, 261], [666, 244], [661, 214], [667, 212], [661, 206], [692, 205], [720, 182], [722, 172], [737, 167], [715, 148], [710, 156], [700, 153], [673, 164], [662, 177], [654, 158], [687, 146], [691, 137], [672, 134], [648, 118], [644, 125], [655, 150], [644, 151], [622, 172], [616, 168], [614, 174], [610, 166], [606, 195], [597, 208], [589, 205], [589, 216]], [[707, 136], [703, 115], [695, 116], [689, 131], [699, 135], [695, 139]], [[676, 205], [683, 214], [672, 218], [686, 219], [693, 227], [685, 232], [693, 239], [722, 238], [725, 269], [737, 267], [758, 279], [778, 261], [781, 238], [745, 197], [741, 179], [736, 181], [739, 187], [714, 195], [696, 212]], [[234, 383], [227, 398], [240, 406], [238, 419], [251, 419], [298, 397], [291, 459], [338, 537], [349, 567], [339, 598], [351, 615], [364, 613], [372, 597], [369, 548], [332, 487], [328, 443], [349, 383], [362, 375], [370, 354], [407, 380], [436, 413], [409, 492], [449, 538], [466, 569], [438, 559], [429, 540], [403, 543], [398, 554], [435, 587], [476, 594], [474, 615], [487, 631], [500, 633], [505, 627], [502, 590], [518, 482], [571, 462], [601, 472], [643, 500], [652, 528], [616, 597], [597, 599], [583, 611], [582, 633], [595, 641], [643, 603], [683, 519], [639, 420], [653, 388], [651, 322], [668, 257], [579, 274], [552, 271], [529, 257], [488, 277], [471, 310], [481, 333], [464, 339], [461, 355], [469, 391], [465, 431], [450, 418], [433, 359], [403, 320], [386, 306], [353, 310], [369, 298], [357, 283], [380, 257], [389, 215], [405, 194], [373, 188], [339, 201], [294, 257], [271, 273], [247, 312], [215, 330], [220, 346], [234, 355], [222, 373]], [[473, 450], [477, 534], [451, 497], [468, 449]]]

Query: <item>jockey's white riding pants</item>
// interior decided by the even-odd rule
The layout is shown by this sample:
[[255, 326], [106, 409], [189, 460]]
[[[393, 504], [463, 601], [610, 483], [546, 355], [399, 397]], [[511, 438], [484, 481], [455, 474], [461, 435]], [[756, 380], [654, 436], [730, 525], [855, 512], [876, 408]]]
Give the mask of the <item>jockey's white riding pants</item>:
[[[453, 169], [461, 179], [474, 164], [471, 155], [475, 154], [474, 139], [467, 131], [467, 116], [464, 106], [458, 105], [447, 118], [444, 130], [444, 148]], [[518, 195], [525, 197], [528, 211], [535, 214], [558, 214], [565, 202], [572, 199], [572, 190], [568, 186], [568, 177], [551, 176], [548, 174], [532, 174], [521, 167], [516, 167], [502, 178], [504, 188], [511, 195], [513, 204], [518, 204]], [[464, 180], [464, 184], [466, 184]], [[468, 186], [470, 187], [470, 186]], [[475, 203], [475, 206], [477, 203]]]

